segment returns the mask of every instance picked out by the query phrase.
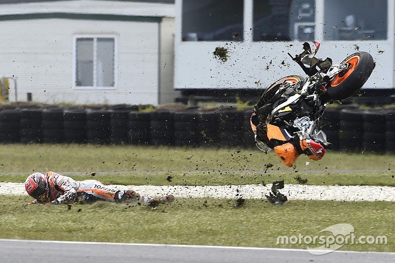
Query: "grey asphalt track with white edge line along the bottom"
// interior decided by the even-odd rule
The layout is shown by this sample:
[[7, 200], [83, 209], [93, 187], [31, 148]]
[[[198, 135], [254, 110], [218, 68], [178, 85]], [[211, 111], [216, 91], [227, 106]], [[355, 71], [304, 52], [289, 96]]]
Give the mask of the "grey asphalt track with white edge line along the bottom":
[[395, 262], [395, 253], [335, 251], [312, 255], [300, 249], [124, 244], [0, 239], [1, 263], [37, 262]]

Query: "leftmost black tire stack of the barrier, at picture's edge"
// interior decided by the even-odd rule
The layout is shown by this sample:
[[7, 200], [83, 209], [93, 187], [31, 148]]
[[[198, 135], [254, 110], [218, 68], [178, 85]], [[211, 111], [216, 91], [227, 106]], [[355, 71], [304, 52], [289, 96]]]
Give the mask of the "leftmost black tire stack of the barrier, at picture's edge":
[[21, 112], [19, 110], [4, 110], [0, 112], [0, 142], [19, 143]]

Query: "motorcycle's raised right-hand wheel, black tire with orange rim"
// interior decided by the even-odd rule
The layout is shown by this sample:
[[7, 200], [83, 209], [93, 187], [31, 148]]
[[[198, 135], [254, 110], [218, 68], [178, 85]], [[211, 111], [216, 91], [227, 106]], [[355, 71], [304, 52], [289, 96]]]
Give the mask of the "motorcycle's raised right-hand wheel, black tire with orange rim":
[[[348, 72], [352, 70], [351, 74], [344, 78], [340, 83], [336, 83], [337, 79], [341, 76], [336, 76], [327, 88], [328, 96], [334, 100], [344, 100], [352, 96], [357, 90], [359, 90], [366, 80], [372, 74], [375, 67], [372, 56], [364, 51], [356, 52], [342, 61], [346, 63], [353, 60], [354, 57], [358, 57], [358, 61], [342, 76], [347, 76]], [[340, 81], [340, 80], [339, 80]]]

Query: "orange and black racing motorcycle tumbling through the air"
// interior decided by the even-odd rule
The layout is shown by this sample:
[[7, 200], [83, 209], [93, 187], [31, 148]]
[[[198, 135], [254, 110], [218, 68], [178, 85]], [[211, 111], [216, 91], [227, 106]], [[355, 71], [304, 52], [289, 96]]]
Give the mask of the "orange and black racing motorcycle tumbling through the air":
[[363, 51], [332, 65], [330, 58], [315, 57], [319, 45], [305, 42], [301, 54], [288, 53], [308, 77], [278, 79], [265, 90], [251, 115], [256, 146], [264, 152], [274, 149], [288, 167], [300, 154], [319, 160], [331, 148], [319, 125], [326, 104], [353, 95], [375, 67], [372, 56]]

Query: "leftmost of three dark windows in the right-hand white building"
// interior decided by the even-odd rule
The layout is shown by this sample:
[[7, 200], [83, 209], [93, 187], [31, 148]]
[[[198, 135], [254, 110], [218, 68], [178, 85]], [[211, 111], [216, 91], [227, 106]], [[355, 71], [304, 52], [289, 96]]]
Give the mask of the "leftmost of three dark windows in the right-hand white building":
[[243, 40], [243, 0], [183, 0], [182, 40]]

